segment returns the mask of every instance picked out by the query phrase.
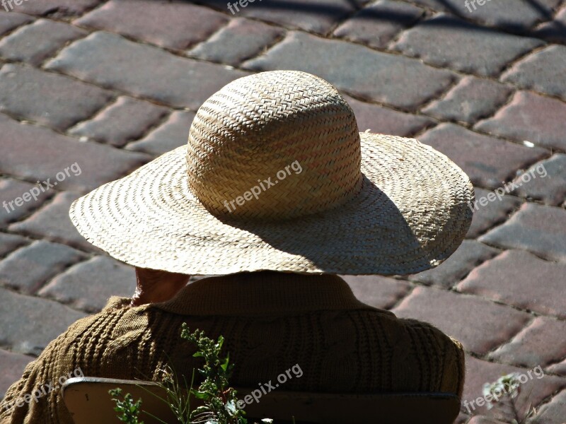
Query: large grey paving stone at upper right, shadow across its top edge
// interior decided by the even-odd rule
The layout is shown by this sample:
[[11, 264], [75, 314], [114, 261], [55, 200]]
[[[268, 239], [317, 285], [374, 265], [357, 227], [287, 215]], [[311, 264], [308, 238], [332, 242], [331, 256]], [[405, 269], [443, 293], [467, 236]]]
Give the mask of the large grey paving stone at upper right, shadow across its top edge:
[[499, 33], [440, 14], [403, 33], [393, 49], [428, 64], [497, 76], [510, 61], [540, 45], [543, 42], [536, 38]]

